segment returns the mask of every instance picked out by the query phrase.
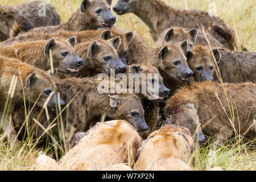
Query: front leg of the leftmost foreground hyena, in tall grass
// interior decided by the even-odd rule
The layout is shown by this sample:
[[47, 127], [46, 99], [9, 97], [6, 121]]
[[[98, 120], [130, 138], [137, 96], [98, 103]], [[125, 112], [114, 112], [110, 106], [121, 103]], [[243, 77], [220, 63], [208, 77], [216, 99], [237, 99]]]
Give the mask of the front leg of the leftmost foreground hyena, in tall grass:
[[2, 129], [5, 132], [5, 135], [8, 138], [8, 143], [10, 147], [14, 147], [16, 144], [16, 131], [14, 129], [13, 120], [11, 119], [11, 115], [9, 115], [5, 121], [3, 121]]

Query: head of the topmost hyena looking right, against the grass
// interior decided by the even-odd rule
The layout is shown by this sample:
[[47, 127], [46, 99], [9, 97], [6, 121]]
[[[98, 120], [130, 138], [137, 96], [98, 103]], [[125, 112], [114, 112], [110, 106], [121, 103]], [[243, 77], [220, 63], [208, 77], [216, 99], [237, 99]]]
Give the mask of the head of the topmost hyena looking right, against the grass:
[[94, 29], [112, 27], [117, 19], [111, 12], [111, 3], [112, 0], [84, 0], [80, 6], [80, 12], [84, 13], [86, 18], [90, 18], [90, 22], [95, 24]]

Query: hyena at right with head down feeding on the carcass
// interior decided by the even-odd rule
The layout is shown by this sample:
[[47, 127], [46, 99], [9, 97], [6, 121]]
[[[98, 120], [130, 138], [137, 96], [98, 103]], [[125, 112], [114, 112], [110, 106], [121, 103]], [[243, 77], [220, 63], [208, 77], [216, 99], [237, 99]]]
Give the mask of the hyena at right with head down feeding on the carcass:
[[[234, 137], [234, 129], [241, 134], [241, 137], [255, 139], [256, 128], [253, 122], [256, 118], [256, 85], [245, 82], [224, 84], [224, 88], [226, 94], [221, 84], [206, 81], [177, 90], [164, 108], [167, 121], [188, 127], [193, 135], [195, 135], [196, 122], [199, 121], [201, 126], [204, 126], [210, 121], [202, 127], [203, 133], [219, 144]], [[234, 129], [232, 120], [230, 121], [226, 95], [229, 104], [233, 105]], [[184, 112], [185, 115], [182, 114]]]

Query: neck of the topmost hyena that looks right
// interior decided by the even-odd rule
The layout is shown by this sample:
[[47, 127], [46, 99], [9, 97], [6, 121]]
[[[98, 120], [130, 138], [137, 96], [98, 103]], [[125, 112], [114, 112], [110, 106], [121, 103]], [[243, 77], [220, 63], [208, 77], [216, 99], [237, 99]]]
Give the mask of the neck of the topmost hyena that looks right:
[[84, 30], [93, 30], [96, 29], [93, 27], [89, 17], [86, 17], [84, 13], [81, 13], [77, 10], [68, 22], [63, 23], [63, 28], [68, 31], [84, 31]]

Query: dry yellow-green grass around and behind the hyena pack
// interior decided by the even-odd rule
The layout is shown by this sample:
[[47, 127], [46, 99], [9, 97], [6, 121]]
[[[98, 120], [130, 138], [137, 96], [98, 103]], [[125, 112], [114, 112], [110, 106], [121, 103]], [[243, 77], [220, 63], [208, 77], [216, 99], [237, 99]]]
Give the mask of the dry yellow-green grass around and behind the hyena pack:
[[[256, 51], [256, 1], [255, 0], [163, 0], [168, 5], [181, 9], [200, 9], [212, 11], [210, 7], [216, 5], [216, 15], [224, 19], [236, 32], [238, 44], [249, 51]], [[1, 5], [17, 5], [26, 0], [1, 0]], [[46, 0], [55, 5], [65, 22], [80, 5], [81, 0]], [[113, 0], [113, 5], [117, 0]], [[152, 46], [152, 39], [148, 28], [133, 14], [117, 15], [118, 27], [125, 30], [137, 31], [146, 41], [148, 47]], [[32, 170], [39, 150], [34, 149], [33, 143], [23, 142], [19, 146], [10, 148], [3, 142], [0, 134], [0, 170]], [[255, 143], [255, 142], [254, 142]], [[51, 150], [51, 149], [50, 149]], [[51, 153], [51, 152], [49, 152]], [[212, 144], [205, 144], [197, 148], [191, 158], [192, 166], [197, 170], [210, 169], [220, 166], [224, 170], [256, 170], [255, 146], [240, 143], [239, 139], [214, 148]]]

